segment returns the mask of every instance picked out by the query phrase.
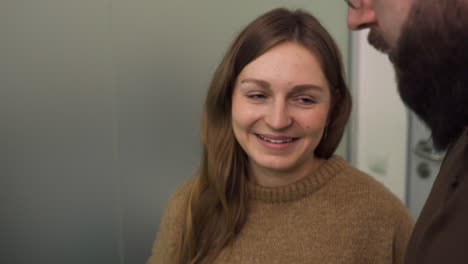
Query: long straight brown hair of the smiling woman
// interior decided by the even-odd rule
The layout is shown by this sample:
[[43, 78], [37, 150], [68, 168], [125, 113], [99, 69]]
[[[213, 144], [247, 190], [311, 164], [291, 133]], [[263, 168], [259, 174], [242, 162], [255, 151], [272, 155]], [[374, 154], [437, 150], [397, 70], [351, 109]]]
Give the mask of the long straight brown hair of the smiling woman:
[[191, 187], [186, 221], [176, 256], [179, 264], [210, 263], [242, 229], [248, 213], [247, 164], [231, 126], [234, 83], [242, 69], [272, 47], [294, 41], [318, 58], [331, 87], [332, 104], [324, 136], [315, 155], [329, 158], [336, 150], [351, 110], [340, 52], [312, 15], [274, 9], [237, 36], [217, 68], [204, 105], [203, 158]]

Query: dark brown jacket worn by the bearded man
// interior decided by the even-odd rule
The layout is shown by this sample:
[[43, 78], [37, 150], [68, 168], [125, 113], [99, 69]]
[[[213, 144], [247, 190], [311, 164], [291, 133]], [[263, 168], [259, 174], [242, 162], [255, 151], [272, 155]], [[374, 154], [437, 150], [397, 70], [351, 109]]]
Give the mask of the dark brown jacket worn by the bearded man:
[[405, 263], [468, 264], [468, 127], [447, 151]]

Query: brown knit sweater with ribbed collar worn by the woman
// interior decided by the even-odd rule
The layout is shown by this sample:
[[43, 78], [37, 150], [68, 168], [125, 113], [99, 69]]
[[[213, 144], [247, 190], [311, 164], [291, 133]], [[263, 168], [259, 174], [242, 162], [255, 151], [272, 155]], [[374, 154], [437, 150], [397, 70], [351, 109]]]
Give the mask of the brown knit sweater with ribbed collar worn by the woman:
[[[172, 264], [188, 185], [171, 198], [148, 264]], [[215, 264], [403, 263], [413, 220], [382, 184], [333, 156], [288, 186], [250, 185], [250, 212]]]

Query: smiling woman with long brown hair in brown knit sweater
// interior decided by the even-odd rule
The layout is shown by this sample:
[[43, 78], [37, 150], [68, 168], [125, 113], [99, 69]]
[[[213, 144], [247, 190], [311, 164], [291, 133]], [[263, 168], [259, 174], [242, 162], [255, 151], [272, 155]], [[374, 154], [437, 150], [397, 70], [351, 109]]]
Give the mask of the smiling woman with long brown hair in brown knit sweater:
[[148, 263], [402, 263], [408, 212], [333, 155], [350, 110], [313, 16], [250, 23], [214, 74], [199, 172], [172, 196]]

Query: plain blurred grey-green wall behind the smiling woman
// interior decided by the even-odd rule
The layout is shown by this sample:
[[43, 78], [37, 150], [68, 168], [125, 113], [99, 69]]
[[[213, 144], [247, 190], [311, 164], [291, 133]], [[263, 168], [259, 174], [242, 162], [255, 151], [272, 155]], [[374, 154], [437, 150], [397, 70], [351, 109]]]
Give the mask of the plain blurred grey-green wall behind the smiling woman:
[[2, 0], [0, 263], [144, 263], [198, 165], [217, 63], [279, 6], [318, 16], [347, 62], [342, 1]]

